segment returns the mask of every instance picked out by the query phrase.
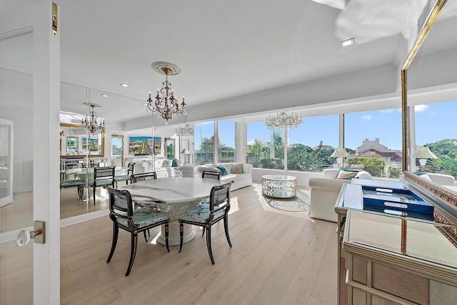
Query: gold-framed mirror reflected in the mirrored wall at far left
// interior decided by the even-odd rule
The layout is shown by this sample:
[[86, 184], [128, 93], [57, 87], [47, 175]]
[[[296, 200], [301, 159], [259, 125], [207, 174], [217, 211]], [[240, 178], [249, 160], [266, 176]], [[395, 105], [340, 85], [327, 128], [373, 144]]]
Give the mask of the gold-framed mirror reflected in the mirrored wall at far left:
[[[105, 133], [91, 133], [88, 137], [86, 129], [79, 124], [60, 124], [61, 157], [103, 157]], [[62, 143], [66, 145], [62, 146]]]

